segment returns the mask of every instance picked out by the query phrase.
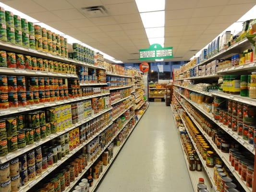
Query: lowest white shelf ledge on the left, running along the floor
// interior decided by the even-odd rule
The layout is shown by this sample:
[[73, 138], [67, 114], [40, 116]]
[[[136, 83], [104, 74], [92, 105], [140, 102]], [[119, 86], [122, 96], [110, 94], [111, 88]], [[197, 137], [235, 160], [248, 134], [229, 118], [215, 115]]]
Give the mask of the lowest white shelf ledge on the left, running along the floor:
[[[144, 113], [145, 112], [146, 112], [146, 110], [144, 111]], [[142, 116], [144, 115], [144, 113], [142, 114]], [[134, 128], [136, 127], [137, 123], [139, 122], [139, 120], [141, 119], [142, 116], [140, 116], [139, 119], [136, 121], [133, 129], [129, 132], [125, 141], [123, 141], [123, 143], [120, 146], [115, 146], [114, 147], [114, 156], [113, 156], [113, 158], [110, 160], [110, 163], [107, 166], [103, 167], [103, 172], [100, 174], [98, 179], [94, 180], [93, 186], [92, 186], [92, 188], [90, 188], [89, 192], [94, 192], [97, 189], [100, 180], [103, 179], [104, 175], [107, 173], [108, 169], [111, 167], [111, 164], [114, 162], [114, 160], [115, 160], [116, 156], [118, 155], [119, 151], [122, 149], [122, 146], [125, 144], [125, 142], [129, 138], [130, 134], [133, 132]]]

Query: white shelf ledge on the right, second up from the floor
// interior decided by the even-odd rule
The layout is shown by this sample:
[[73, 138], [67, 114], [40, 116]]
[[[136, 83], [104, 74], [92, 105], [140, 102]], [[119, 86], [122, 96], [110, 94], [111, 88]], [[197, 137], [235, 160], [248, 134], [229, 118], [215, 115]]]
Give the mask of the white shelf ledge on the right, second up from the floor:
[[[179, 114], [179, 115], [180, 115], [180, 114]], [[197, 147], [196, 147], [196, 144], [195, 144], [195, 142], [194, 142], [194, 140], [193, 140], [193, 137], [190, 135], [190, 133], [189, 133], [189, 131], [188, 131], [188, 128], [187, 128], [187, 126], [186, 126], [186, 124], [185, 124], [185, 121], [183, 120], [183, 118], [182, 118], [181, 115], [180, 115], [180, 117], [181, 117], [181, 120], [182, 120], [182, 122], [183, 122], [183, 125], [184, 125], [184, 127], [185, 127], [185, 129], [186, 129], [186, 132], [188, 133], [188, 136], [189, 136], [189, 138], [190, 138], [192, 144], [194, 145], [195, 151], [196, 151], [197, 155], [198, 155], [199, 158], [200, 158], [200, 161], [201, 161], [201, 163], [202, 163], [202, 166], [204, 167], [204, 169], [205, 169], [205, 171], [206, 171], [206, 173], [207, 173], [207, 176], [208, 176], [208, 178], [209, 178], [209, 180], [210, 180], [210, 182], [211, 182], [211, 185], [212, 185], [213, 190], [214, 190], [215, 192], [218, 192], [218, 191], [217, 191], [217, 188], [216, 188], [216, 185], [215, 185], [215, 182], [214, 182], [214, 180], [213, 180], [213, 174], [214, 174], [213, 168], [208, 168], [208, 167], [206, 166], [206, 161], [205, 161], [205, 160], [203, 159], [203, 157], [200, 155], [200, 152], [198, 151], [198, 149], [197, 149]]]

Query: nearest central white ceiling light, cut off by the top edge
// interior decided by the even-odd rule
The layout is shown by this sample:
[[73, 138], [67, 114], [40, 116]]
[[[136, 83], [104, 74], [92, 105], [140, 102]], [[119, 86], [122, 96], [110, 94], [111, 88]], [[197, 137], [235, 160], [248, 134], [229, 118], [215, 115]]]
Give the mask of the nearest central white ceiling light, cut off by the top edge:
[[162, 11], [165, 8], [165, 0], [135, 0], [139, 12]]

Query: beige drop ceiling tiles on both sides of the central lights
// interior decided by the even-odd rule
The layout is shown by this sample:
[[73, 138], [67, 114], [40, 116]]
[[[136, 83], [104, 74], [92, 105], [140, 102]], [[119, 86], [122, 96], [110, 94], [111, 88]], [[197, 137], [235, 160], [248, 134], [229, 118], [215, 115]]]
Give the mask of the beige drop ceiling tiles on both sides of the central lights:
[[[135, 0], [7, 0], [4, 3], [124, 62], [134, 58], [131, 53], [135, 48], [138, 52], [149, 46]], [[255, 3], [256, 0], [166, 0], [165, 46], [173, 46], [177, 56], [188, 60], [190, 49], [203, 48]], [[94, 5], [104, 5], [110, 16], [86, 18], [79, 11], [81, 7]], [[104, 46], [106, 51], [102, 49]]]

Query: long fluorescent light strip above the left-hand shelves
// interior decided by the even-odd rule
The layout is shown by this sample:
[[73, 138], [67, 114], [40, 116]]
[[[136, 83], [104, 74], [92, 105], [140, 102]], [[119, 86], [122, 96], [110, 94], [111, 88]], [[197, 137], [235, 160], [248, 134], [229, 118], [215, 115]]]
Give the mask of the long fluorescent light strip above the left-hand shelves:
[[18, 10], [13, 9], [12, 7], [10, 7], [10, 6], [8, 6], [8, 5], [4, 4], [4, 3], [0, 2], [0, 7], [3, 7], [6, 11], [13, 12], [14, 15], [19, 15], [21, 18], [24, 18], [24, 19], [28, 20], [29, 22], [33, 22], [35, 24], [40, 25], [41, 27], [45, 27], [45, 28], [51, 30], [54, 33], [57, 33], [57, 34], [59, 34], [61, 36], [64, 36], [65, 38], [68, 39], [68, 43], [70, 43], [70, 44], [72, 44], [72, 43], [79, 43], [80, 45], [85, 46], [87, 48], [90, 48], [90, 49], [92, 49], [95, 52], [99, 52], [100, 54], [102, 54], [104, 56], [104, 59], [106, 59], [106, 60], [110, 60], [110, 61], [112, 61], [114, 63], [122, 63], [121, 60], [116, 60], [115, 58], [111, 57], [110, 55], [108, 55], [106, 53], [103, 53], [102, 51], [100, 51], [100, 50], [98, 50], [96, 48], [92, 48], [91, 46], [89, 46], [89, 45], [87, 45], [85, 43], [82, 43], [81, 41], [73, 38], [72, 36], [65, 35], [65, 33], [61, 32], [61, 31], [59, 31], [59, 30], [57, 30], [57, 29], [55, 29], [55, 28], [53, 28], [53, 27], [51, 27], [51, 26], [49, 26], [47, 24], [41, 23], [40, 21], [38, 21], [38, 20], [36, 20], [36, 19], [34, 19], [34, 18], [24, 14], [23, 12], [19, 12]]

